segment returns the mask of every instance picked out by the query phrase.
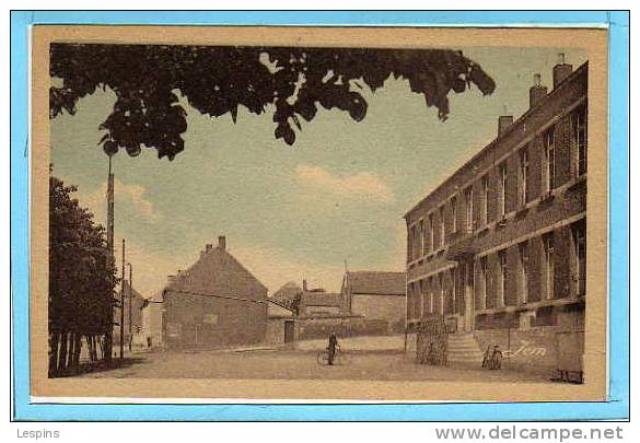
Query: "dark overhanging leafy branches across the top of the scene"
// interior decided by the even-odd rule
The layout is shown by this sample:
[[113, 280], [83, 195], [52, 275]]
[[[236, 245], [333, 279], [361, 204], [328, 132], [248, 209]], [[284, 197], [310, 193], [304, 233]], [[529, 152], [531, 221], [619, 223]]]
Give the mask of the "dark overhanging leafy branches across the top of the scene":
[[293, 127], [301, 130], [300, 118], [311, 121], [318, 105], [362, 120], [368, 104], [358, 91], [365, 84], [375, 92], [389, 75], [407, 79], [443, 120], [451, 90], [496, 88], [462, 53], [443, 49], [53, 44], [50, 56], [50, 75], [62, 80], [49, 92], [50, 118], [74, 114], [79, 98], [109, 88], [117, 100], [100, 127], [105, 152], [152, 148], [170, 160], [184, 150], [187, 129], [178, 92], [198, 112], [230, 113], [233, 121], [241, 105], [254, 114], [274, 105], [276, 138], [293, 144]]

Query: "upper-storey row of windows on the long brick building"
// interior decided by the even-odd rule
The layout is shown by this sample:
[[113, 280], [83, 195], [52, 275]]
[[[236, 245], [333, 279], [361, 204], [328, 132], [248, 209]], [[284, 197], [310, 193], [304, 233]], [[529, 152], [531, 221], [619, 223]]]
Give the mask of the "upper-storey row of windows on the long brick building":
[[[586, 106], [579, 107], [567, 118], [571, 125], [569, 152], [573, 156], [572, 171], [575, 175], [583, 176], [586, 174]], [[490, 222], [490, 212], [494, 212], [493, 219], [503, 219], [513, 207], [525, 207], [536, 195], [547, 195], [558, 187], [561, 183], [557, 171], [561, 159], [558, 156], [556, 132], [557, 125], [523, 147], [514, 154], [516, 158], [500, 163], [497, 166], [497, 179], [492, 180], [489, 173], [485, 174], [478, 183], [467, 186], [462, 191], [459, 196], [462, 201], [458, 201], [458, 195], [455, 195], [446, 203], [412, 224], [408, 235], [408, 260], [416, 260], [443, 248], [450, 234], [473, 233], [476, 229], [486, 226]], [[538, 145], [542, 147], [542, 155], [534, 155], [536, 153], [534, 150]], [[535, 173], [538, 173], [539, 178], [534, 177]], [[517, 193], [515, 205], [510, 203], [510, 198], [513, 198], [510, 196], [513, 186], [511, 180], [515, 180], [513, 187]], [[497, 202], [493, 211], [490, 210], [492, 199]]]

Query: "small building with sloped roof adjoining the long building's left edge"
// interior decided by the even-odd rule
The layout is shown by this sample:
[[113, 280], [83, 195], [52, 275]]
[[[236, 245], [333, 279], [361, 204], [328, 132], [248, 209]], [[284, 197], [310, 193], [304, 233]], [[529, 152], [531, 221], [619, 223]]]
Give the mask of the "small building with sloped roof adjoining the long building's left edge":
[[407, 275], [388, 271], [348, 271], [342, 299], [352, 315], [385, 319], [394, 330], [405, 325]]

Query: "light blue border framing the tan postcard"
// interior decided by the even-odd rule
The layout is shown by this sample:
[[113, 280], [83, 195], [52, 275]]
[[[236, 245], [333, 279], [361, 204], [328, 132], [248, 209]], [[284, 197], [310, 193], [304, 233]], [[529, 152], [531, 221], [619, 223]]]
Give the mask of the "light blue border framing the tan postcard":
[[[34, 405], [28, 377], [28, 30], [33, 24], [607, 26], [610, 386], [607, 403], [431, 405]], [[575, 420], [629, 417], [628, 12], [12, 12], [11, 303], [16, 420]], [[35, 148], [37, 149], [37, 147]]]

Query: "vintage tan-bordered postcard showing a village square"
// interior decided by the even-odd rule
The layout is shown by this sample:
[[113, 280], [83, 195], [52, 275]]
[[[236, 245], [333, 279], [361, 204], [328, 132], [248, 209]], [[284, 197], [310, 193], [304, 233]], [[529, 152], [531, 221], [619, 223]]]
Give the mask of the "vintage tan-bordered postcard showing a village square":
[[603, 400], [605, 28], [36, 25], [34, 401]]

